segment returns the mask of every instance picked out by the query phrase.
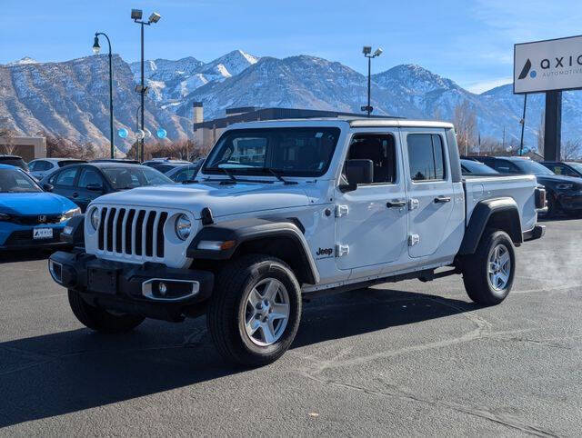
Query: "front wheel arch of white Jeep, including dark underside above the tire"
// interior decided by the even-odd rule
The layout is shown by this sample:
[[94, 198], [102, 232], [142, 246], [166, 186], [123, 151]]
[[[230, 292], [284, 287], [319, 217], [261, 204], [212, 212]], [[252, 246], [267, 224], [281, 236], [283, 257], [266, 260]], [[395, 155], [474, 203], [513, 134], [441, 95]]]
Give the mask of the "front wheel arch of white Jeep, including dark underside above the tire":
[[[266, 254], [288, 264], [299, 284], [319, 283], [319, 272], [296, 218], [250, 218], [206, 225], [189, 245], [187, 256], [216, 264], [243, 254]], [[201, 242], [232, 242], [225, 249], [199, 249]]]

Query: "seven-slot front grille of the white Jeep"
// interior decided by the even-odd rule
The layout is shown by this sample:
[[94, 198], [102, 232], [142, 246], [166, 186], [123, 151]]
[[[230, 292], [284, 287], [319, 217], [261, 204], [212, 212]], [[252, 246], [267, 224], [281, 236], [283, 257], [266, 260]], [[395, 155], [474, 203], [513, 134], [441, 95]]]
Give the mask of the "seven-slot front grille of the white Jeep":
[[163, 258], [167, 216], [167, 212], [157, 210], [103, 207], [97, 231], [99, 253]]

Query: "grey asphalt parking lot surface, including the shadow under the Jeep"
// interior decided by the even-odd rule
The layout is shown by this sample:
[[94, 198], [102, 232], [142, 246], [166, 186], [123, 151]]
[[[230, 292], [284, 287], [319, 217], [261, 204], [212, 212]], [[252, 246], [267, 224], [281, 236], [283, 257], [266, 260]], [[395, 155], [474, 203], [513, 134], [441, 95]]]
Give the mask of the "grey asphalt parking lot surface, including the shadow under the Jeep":
[[546, 224], [504, 304], [459, 276], [315, 298], [254, 370], [222, 362], [204, 318], [92, 333], [42, 254], [4, 256], [0, 434], [579, 435], [582, 220]]

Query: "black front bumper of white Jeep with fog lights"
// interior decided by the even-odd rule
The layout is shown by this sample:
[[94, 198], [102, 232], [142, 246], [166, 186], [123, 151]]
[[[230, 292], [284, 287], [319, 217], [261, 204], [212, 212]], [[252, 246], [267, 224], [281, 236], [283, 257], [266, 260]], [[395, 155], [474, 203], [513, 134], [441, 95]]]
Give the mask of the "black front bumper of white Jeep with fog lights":
[[89, 304], [167, 321], [203, 313], [214, 287], [211, 272], [112, 262], [83, 252], [56, 252], [48, 267], [57, 284], [82, 294]]

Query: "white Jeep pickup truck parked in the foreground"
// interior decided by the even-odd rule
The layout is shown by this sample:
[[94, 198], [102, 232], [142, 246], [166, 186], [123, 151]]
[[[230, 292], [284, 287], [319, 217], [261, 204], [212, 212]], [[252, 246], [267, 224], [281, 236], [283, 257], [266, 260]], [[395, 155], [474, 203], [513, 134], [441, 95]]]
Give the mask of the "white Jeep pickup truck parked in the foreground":
[[196, 179], [106, 194], [71, 220], [76, 249], [49, 271], [81, 323], [206, 314], [226, 359], [261, 365], [295, 338], [303, 294], [462, 274], [471, 300], [499, 304], [514, 248], [545, 231], [536, 177], [463, 179], [447, 123], [233, 124]]

